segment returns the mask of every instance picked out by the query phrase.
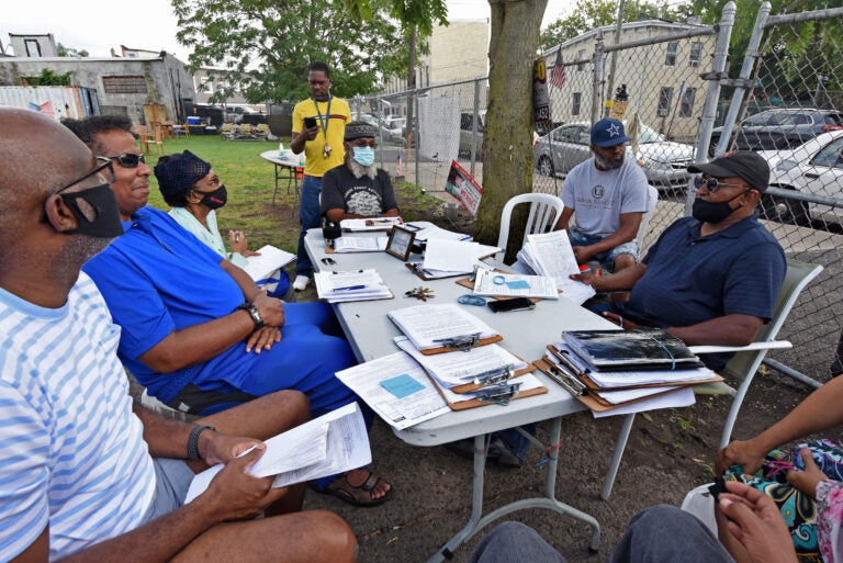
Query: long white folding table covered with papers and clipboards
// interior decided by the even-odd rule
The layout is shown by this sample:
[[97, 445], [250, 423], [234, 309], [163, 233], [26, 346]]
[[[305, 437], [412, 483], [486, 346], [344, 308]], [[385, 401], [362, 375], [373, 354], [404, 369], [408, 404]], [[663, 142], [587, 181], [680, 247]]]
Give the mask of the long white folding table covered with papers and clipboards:
[[[344, 236], [348, 236], [348, 234]], [[305, 246], [315, 269], [340, 271], [374, 268], [395, 295], [395, 299], [392, 300], [334, 305], [337, 317], [360, 362], [394, 353], [397, 350], [393, 337], [400, 336], [401, 331], [387, 318], [386, 313], [422, 304], [416, 299], [405, 297], [406, 291], [419, 285], [430, 288], [436, 295], [429, 301], [431, 304], [456, 303], [460, 295], [471, 293], [471, 290], [456, 283], [459, 278], [422, 280], [409, 271], [400, 259], [385, 252], [327, 254], [321, 229], [307, 232]], [[335, 263], [329, 263], [330, 260]], [[495, 314], [485, 306], [465, 305], [465, 307], [503, 335], [504, 339], [499, 342], [501, 346], [527, 361], [541, 358], [546, 346], [558, 341], [563, 330], [617, 328], [608, 320], [564, 299], [544, 300], [537, 303], [535, 309], [512, 313]], [[488, 405], [465, 410], [452, 410], [402, 431], [393, 429], [395, 435], [405, 442], [425, 447], [474, 437], [471, 517], [465, 527], [440, 548], [428, 560], [428, 563], [441, 562], [446, 558], [450, 559], [451, 553], [458, 547], [488, 522], [525, 508], [547, 508], [588, 523], [592, 528], [589, 549], [597, 550], [600, 537], [597, 520], [555, 498], [557, 457], [551, 457], [550, 461], [546, 463], [547, 475], [543, 497], [520, 499], [483, 516], [483, 470], [486, 458], [486, 435], [529, 423], [552, 420], [551, 443], [559, 443], [562, 417], [586, 409], [582, 403], [552, 380], [546, 378], [544, 374], [538, 371], [536, 374], [548, 387], [548, 393], [515, 399], [506, 406]]]

